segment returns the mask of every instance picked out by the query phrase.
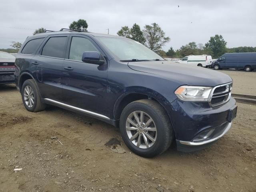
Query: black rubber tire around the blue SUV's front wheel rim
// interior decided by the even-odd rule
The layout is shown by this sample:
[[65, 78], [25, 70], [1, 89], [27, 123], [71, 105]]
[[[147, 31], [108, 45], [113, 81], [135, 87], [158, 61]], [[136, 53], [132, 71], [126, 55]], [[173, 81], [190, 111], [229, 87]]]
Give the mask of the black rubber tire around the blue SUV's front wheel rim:
[[[157, 130], [157, 137], [155, 143], [149, 148], [139, 148], [130, 141], [126, 132], [126, 120], [128, 116], [134, 111], [143, 111], [148, 114], [154, 121]], [[124, 143], [135, 154], [142, 157], [154, 157], [165, 150], [172, 144], [173, 129], [170, 120], [166, 115], [164, 108], [154, 100], [137, 100], [128, 104], [120, 116], [120, 132]]]

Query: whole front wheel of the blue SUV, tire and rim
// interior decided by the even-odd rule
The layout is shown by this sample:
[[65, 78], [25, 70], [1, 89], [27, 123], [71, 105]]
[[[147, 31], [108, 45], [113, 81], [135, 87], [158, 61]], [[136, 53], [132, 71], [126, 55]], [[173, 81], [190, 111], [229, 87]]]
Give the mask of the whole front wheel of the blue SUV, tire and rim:
[[135, 154], [153, 157], [168, 149], [173, 131], [164, 108], [153, 100], [138, 100], [128, 104], [120, 117], [124, 143]]

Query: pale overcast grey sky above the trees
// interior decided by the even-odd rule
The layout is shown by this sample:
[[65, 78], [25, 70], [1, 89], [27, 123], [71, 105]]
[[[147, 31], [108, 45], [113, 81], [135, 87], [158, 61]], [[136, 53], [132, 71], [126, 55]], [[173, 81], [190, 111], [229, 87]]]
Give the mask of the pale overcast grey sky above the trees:
[[[179, 7], [178, 7], [179, 6]], [[84, 19], [88, 31], [116, 35], [122, 26], [156, 22], [170, 37], [163, 49], [205, 44], [220, 34], [227, 47], [256, 46], [254, 0], [2, 0], [0, 48], [24, 42], [34, 30], [68, 28]]]

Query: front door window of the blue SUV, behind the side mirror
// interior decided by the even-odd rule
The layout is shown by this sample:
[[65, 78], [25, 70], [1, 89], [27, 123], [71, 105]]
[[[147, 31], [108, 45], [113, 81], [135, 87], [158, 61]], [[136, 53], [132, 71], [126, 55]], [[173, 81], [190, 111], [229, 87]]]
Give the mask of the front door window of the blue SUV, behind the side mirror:
[[90, 40], [82, 37], [72, 37], [69, 51], [69, 59], [82, 60], [85, 51], [98, 51]]

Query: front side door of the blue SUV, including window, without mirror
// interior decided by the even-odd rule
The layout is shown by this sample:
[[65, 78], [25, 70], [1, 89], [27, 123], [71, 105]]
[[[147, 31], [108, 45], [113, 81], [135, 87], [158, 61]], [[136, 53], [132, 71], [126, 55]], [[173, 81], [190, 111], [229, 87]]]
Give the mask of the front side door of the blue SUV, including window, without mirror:
[[85, 51], [104, 54], [90, 38], [70, 36], [63, 64], [63, 100], [68, 105], [105, 115], [108, 62], [102, 66], [82, 62]]

